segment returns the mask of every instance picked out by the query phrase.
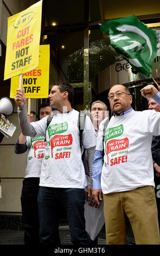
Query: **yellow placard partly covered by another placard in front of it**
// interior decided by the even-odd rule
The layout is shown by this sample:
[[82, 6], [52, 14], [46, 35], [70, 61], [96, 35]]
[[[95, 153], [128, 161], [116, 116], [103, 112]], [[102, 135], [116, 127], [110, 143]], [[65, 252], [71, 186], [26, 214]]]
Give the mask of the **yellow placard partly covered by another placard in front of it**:
[[[49, 45], [40, 45], [39, 68], [31, 70], [23, 75], [23, 88], [25, 97], [39, 99], [48, 97], [49, 90]], [[19, 76], [11, 78], [10, 98], [16, 96], [19, 84]]]

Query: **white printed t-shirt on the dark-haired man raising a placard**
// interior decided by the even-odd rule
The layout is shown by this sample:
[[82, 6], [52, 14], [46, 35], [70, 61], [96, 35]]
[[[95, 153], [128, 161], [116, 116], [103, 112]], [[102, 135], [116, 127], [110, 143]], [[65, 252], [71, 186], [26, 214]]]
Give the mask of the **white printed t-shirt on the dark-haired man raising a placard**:
[[[87, 185], [81, 160], [78, 116], [79, 112], [74, 109], [68, 113], [57, 113], [48, 129], [47, 117], [31, 123], [36, 130], [36, 136], [46, 136], [40, 186], [85, 188]], [[85, 129], [82, 133], [82, 141], [86, 149], [95, 147], [94, 133], [91, 119], [86, 115]]]

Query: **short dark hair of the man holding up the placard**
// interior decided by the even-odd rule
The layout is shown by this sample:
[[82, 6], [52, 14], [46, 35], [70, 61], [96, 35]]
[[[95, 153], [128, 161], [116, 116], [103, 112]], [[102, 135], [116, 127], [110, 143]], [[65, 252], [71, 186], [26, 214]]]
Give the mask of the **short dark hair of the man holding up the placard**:
[[61, 93], [68, 92], [68, 100], [71, 103], [71, 106], [73, 106], [74, 88], [71, 86], [71, 84], [66, 82], [55, 82], [53, 85], [59, 86]]

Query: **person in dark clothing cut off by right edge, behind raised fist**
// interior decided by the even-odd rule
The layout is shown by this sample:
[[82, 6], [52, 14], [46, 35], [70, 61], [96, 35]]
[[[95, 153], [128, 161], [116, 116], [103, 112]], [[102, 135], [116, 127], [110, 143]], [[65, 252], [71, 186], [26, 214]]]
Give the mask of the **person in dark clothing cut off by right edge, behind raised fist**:
[[[153, 109], [157, 112], [160, 112], [160, 106], [158, 103], [150, 99], [148, 102], [148, 109]], [[154, 167], [154, 181], [155, 181], [155, 194], [156, 194], [156, 203], [158, 210], [158, 220], [160, 221], [160, 136], [153, 136], [152, 138], [152, 158], [153, 158], [153, 167]]]

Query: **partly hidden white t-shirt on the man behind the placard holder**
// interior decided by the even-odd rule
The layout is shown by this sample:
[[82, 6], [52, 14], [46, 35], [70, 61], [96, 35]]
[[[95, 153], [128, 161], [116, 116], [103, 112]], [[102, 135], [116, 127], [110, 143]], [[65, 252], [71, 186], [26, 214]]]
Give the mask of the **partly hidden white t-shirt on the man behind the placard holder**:
[[26, 144], [28, 147], [27, 165], [24, 178], [40, 177], [43, 160], [43, 151], [46, 146], [43, 136], [30, 138], [27, 136]]

